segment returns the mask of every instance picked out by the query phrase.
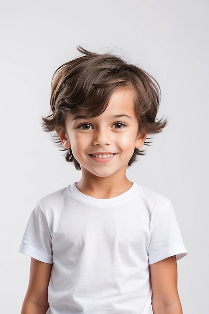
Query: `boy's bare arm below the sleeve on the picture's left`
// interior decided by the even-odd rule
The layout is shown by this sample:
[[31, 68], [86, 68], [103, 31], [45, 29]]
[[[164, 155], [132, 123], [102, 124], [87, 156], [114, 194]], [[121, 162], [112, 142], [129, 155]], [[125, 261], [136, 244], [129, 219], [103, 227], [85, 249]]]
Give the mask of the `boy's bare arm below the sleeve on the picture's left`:
[[46, 314], [52, 264], [31, 259], [30, 279], [21, 314]]

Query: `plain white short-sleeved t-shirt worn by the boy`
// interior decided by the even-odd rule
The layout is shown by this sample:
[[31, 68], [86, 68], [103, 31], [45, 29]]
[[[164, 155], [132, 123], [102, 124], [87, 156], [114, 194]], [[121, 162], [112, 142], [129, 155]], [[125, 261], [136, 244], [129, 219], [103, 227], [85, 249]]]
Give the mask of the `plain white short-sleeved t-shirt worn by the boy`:
[[74, 183], [41, 199], [20, 252], [53, 263], [48, 314], [149, 314], [149, 264], [187, 254], [171, 203], [138, 186], [110, 199]]

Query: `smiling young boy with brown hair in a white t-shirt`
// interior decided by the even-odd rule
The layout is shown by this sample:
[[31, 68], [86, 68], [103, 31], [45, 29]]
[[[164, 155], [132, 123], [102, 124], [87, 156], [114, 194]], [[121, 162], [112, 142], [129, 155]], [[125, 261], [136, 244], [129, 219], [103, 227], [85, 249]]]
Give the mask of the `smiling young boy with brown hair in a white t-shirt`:
[[126, 169], [166, 121], [157, 82], [111, 54], [65, 63], [46, 131], [82, 177], [41, 199], [20, 247], [31, 259], [22, 314], [180, 314], [176, 259], [187, 254], [166, 198]]

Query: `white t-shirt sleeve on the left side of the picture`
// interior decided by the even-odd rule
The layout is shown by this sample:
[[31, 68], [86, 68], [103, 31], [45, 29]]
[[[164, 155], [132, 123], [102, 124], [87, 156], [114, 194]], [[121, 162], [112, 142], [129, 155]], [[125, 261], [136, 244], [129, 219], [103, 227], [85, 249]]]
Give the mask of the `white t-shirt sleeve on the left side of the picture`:
[[47, 219], [39, 204], [29, 218], [19, 251], [41, 262], [53, 263], [52, 237]]

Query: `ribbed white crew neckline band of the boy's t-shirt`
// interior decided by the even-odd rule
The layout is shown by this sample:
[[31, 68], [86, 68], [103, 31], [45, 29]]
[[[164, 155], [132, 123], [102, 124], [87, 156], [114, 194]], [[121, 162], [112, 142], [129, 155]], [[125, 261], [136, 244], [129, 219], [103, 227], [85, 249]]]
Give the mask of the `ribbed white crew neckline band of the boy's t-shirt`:
[[78, 190], [76, 187], [76, 182], [74, 182], [72, 185], [69, 186], [71, 194], [80, 202], [85, 203], [87, 205], [91, 206], [97, 206], [97, 207], [105, 207], [109, 204], [115, 205], [123, 202], [124, 200], [127, 200], [129, 197], [131, 197], [136, 191], [138, 190], [138, 185], [133, 182], [130, 189], [128, 189], [126, 192], [115, 196], [113, 198], [109, 199], [97, 199], [92, 196], [86, 195]]

